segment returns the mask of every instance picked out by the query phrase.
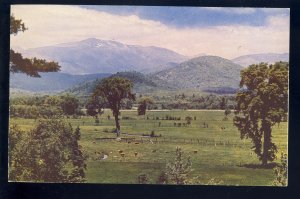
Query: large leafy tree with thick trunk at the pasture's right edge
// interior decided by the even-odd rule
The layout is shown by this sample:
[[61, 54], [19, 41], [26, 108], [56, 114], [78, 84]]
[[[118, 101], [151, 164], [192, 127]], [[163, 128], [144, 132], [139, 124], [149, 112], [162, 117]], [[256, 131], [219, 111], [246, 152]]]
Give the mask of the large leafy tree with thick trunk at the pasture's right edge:
[[260, 63], [241, 71], [234, 124], [241, 139], [252, 140], [253, 150], [264, 166], [276, 158], [272, 126], [287, 116], [288, 68], [287, 62]]

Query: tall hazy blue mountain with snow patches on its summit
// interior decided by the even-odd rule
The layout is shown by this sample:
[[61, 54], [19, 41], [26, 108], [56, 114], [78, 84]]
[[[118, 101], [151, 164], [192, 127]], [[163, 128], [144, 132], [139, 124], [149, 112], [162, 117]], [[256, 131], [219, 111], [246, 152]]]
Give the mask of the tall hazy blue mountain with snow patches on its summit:
[[155, 72], [185, 61], [188, 57], [155, 46], [127, 45], [89, 38], [79, 42], [23, 50], [24, 57], [54, 60], [69, 74]]

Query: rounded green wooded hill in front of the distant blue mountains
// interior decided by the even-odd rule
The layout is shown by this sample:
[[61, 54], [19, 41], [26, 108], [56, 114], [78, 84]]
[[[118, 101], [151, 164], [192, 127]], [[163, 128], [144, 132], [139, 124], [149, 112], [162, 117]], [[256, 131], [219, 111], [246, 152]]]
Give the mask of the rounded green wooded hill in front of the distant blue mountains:
[[154, 79], [181, 89], [237, 88], [242, 67], [218, 56], [201, 56], [155, 73]]

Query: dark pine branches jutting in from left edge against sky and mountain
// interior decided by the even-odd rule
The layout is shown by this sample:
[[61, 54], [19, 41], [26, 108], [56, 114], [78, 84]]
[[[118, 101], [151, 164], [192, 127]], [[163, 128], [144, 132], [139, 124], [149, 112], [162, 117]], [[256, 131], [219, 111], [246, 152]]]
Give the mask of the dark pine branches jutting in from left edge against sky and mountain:
[[[21, 19], [10, 16], [10, 35], [17, 35], [20, 31], [24, 32], [27, 28]], [[39, 72], [57, 72], [61, 66], [57, 62], [46, 61], [37, 58], [23, 58], [20, 53], [10, 50], [9, 70], [12, 73], [25, 73], [31, 77], [40, 77]]]

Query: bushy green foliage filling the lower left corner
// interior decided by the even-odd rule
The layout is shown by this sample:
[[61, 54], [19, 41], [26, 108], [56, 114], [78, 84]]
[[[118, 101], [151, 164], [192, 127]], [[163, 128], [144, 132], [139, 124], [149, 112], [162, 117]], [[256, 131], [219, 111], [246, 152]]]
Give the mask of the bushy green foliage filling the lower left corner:
[[84, 182], [86, 156], [73, 131], [62, 120], [40, 120], [30, 131], [16, 125], [9, 131], [9, 180], [31, 182]]

